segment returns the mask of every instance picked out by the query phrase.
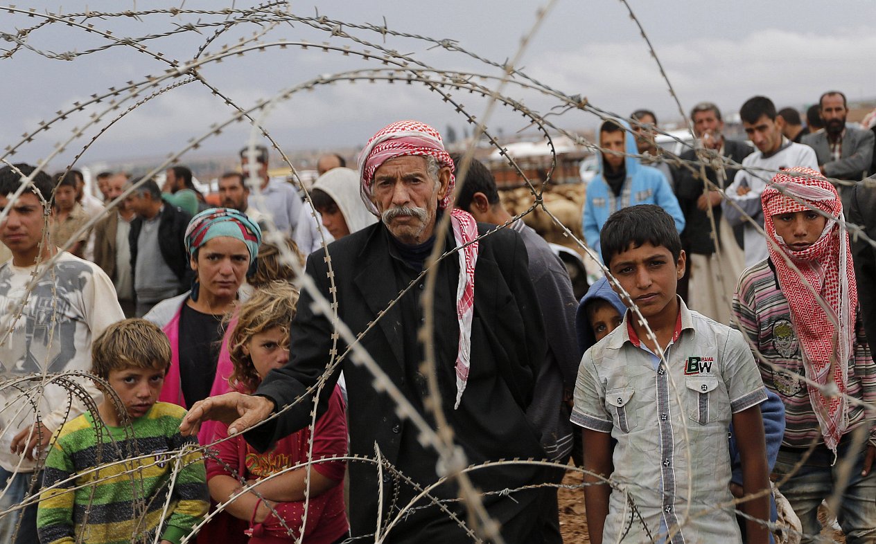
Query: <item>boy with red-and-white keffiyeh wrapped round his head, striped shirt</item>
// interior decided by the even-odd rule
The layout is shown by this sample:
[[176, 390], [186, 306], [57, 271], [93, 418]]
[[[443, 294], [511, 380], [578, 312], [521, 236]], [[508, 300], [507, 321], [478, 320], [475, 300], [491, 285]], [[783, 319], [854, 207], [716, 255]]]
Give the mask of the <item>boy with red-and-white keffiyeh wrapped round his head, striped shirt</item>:
[[[846, 541], [872, 542], [876, 363], [858, 318], [843, 206], [836, 188], [809, 168], [779, 172], [761, 202], [769, 258], [739, 279], [733, 313], [764, 383], [785, 402], [787, 426], [775, 465], [788, 477], [781, 492], [803, 533], [815, 535], [818, 505], [841, 491], [837, 518]], [[864, 436], [852, 436], [855, 429]], [[852, 466], [844, 490], [834, 489], [847, 464], [837, 461]]]

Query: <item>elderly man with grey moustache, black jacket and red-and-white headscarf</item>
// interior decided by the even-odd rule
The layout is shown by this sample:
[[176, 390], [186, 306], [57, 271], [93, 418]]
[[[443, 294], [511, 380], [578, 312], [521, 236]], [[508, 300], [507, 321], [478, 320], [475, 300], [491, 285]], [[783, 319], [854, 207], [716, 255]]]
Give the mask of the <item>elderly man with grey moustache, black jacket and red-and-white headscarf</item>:
[[[336, 297], [338, 317], [360, 335], [358, 344], [380, 367], [383, 374], [377, 380], [349, 361], [343, 341], [335, 344], [332, 319], [314, 311], [313, 297], [305, 290], [291, 327], [289, 363], [269, 374], [256, 396], [225, 394], [195, 404], [181, 428], [193, 433], [202, 420], [217, 419], [230, 423], [234, 432], [285, 408], [244, 435], [265, 450], [310, 423], [312, 388], [325, 374], [317, 406], [321, 413], [343, 366], [350, 453], [371, 459], [378, 454], [383, 462], [349, 464], [353, 536], [373, 539], [367, 535], [376, 528], [383, 536], [400, 513], [386, 542], [473, 540], [461, 527], [469, 516], [466, 503], [458, 500], [456, 478], [436, 485], [447, 471], [452, 475], [450, 459], [424, 446], [425, 440], [420, 443], [420, 430], [399, 415], [399, 404], [381, 382], [392, 384], [414, 415], [433, 429], [438, 423], [429, 407], [440, 401], [442, 429], [452, 429], [458, 455], [464, 457], [461, 465], [453, 463], [457, 467], [545, 457], [540, 436], [525, 415], [546, 353], [526, 248], [508, 228], [473, 243], [490, 227], [453, 208], [453, 166], [431, 127], [407, 121], [382, 129], [359, 164], [364, 205], [381, 221], [330, 244], [330, 261], [319, 252], [307, 259], [307, 275], [322, 296]], [[451, 227], [439, 229], [444, 214], [450, 215]], [[422, 273], [438, 240], [448, 253], [435, 265], [435, 288], [429, 293]], [[424, 343], [420, 327], [426, 322], [428, 295], [434, 303], [434, 337]], [[437, 396], [430, 394], [420, 365], [427, 349], [434, 352]], [[338, 360], [341, 366], [328, 371]], [[506, 542], [543, 541], [540, 518], [547, 492], [521, 488], [548, 481], [544, 468], [496, 464], [469, 476]], [[432, 499], [416, 499], [427, 488]]]

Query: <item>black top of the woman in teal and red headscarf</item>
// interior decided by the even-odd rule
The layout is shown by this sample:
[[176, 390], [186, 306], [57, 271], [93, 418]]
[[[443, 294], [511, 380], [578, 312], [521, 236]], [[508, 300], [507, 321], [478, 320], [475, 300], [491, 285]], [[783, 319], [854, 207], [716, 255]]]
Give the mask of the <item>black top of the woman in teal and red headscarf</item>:
[[186, 405], [210, 396], [225, 327], [222, 316], [201, 313], [187, 303], [180, 313], [180, 387]]

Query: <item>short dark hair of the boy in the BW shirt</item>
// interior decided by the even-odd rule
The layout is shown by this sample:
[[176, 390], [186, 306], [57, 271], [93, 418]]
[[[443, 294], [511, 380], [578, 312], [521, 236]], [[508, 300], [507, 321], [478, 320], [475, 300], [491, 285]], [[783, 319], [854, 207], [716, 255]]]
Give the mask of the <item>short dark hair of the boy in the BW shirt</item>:
[[682, 239], [675, 228], [675, 220], [663, 208], [653, 204], [619, 209], [605, 220], [599, 234], [605, 266], [611, 264], [615, 255], [639, 248], [646, 242], [655, 248], [667, 248], [676, 262], [682, 254]]

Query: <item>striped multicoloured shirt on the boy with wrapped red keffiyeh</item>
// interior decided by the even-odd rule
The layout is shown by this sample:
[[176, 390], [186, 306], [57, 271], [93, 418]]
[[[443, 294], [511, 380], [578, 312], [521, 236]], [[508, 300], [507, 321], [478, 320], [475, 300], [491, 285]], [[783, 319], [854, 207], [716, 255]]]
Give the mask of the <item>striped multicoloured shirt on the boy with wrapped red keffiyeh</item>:
[[[733, 295], [733, 315], [752, 345], [764, 384], [785, 403], [782, 445], [805, 448], [812, 443], [823, 443], [808, 388], [798, 379], [798, 376], [806, 375], [806, 369], [788, 299], [781, 292], [773, 263], [768, 259], [746, 269], [739, 277]], [[849, 361], [846, 393], [872, 406], [876, 404], [876, 363], [870, 356], [860, 310], [855, 328], [858, 339], [853, 359]], [[867, 420], [865, 408], [850, 403], [846, 432], [861, 424], [871, 425], [871, 436], [874, 436], [876, 427], [872, 427], [872, 419]]]

